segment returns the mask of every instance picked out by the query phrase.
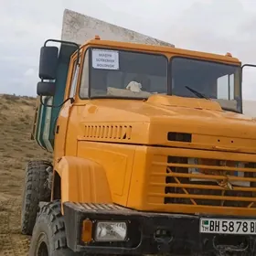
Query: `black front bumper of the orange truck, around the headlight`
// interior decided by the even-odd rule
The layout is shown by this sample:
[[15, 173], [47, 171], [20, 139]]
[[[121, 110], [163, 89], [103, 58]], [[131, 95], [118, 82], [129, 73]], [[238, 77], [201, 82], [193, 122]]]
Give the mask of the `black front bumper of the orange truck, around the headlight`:
[[[86, 254], [229, 255], [230, 251], [236, 251], [236, 255], [252, 256], [256, 253], [256, 236], [200, 233], [199, 219], [206, 216], [139, 212], [115, 205], [70, 202], [64, 203], [64, 213], [69, 248]], [[85, 244], [80, 239], [84, 219], [129, 221], [128, 240]], [[165, 235], [157, 233], [159, 229], [165, 230]], [[225, 247], [221, 246], [223, 242]]]

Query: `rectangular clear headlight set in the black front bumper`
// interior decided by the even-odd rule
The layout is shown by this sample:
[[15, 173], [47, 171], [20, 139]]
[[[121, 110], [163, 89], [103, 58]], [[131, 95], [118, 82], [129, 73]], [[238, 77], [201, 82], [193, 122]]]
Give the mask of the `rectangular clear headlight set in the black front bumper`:
[[125, 222], [99, 221], [96, 225], [96, 241], [125, 240], [127, 225]]

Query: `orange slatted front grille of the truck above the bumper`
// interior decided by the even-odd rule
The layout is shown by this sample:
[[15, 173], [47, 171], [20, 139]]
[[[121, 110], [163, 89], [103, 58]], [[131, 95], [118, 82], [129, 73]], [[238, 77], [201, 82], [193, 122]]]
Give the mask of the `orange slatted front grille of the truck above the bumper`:
[[[165, 205], [255, 208], [255, 163], [185, 156], [165, 159], [165, 163], [153, 162], [151, 198], [162, 197]], [[161, 166], [160, 172], [155, 171]]]

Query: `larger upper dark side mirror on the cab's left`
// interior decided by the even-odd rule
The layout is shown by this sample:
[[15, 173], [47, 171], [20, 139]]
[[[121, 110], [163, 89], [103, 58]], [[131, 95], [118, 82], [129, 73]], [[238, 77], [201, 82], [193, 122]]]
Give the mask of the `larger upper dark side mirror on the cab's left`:
[[59, 48], [42, 47], [40, 50], [39, 78], [41, 80], [55, 80], [58, 65]]

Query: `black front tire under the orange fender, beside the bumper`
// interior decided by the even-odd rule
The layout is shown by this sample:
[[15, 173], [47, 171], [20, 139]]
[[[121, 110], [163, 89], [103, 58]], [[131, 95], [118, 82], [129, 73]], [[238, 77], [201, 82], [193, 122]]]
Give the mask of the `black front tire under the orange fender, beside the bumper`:
[[64, 218], [59, 200], [45, 204], [33, 229], [29, 256], [80, 255], [67, 246]]

